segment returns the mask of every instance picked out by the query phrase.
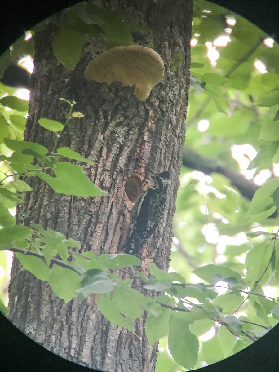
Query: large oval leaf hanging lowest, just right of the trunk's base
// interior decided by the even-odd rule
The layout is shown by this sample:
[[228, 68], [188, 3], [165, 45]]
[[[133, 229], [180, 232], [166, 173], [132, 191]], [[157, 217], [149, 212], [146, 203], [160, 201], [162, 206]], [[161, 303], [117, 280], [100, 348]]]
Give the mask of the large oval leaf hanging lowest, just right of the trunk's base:
[[198, 360], [199, 340], [189, 330], [189, 323], [173, 313], [169, 322], [169, 349], [173, 359], [184, 368], [193, 369]]

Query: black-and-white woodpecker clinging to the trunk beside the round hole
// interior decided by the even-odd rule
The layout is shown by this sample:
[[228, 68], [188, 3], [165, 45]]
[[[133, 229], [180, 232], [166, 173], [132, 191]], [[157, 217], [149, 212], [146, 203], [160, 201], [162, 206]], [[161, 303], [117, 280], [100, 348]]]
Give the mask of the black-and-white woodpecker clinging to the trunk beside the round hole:
[[170, 185], [170, 172], [164, 171], [151, 177], [154, 185], [140, 196], [131, 210], [129, 236], [121, 248], [124, 253], [137, 254], [163, 216]]

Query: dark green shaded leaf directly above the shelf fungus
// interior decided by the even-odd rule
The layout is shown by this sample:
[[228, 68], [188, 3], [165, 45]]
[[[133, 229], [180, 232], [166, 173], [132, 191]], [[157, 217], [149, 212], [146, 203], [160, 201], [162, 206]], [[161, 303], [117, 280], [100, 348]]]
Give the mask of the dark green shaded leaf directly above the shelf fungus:
[[113, 41], [113, 46], [134, 44], [131, 31], [121, 19], [92, 3], [88, 3], [88, 8], [103, 20], [104, 24], [100, 25], [100, 28], [108, 41]]

